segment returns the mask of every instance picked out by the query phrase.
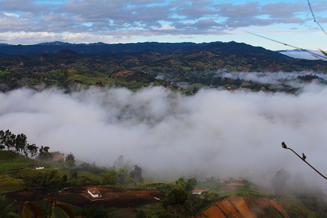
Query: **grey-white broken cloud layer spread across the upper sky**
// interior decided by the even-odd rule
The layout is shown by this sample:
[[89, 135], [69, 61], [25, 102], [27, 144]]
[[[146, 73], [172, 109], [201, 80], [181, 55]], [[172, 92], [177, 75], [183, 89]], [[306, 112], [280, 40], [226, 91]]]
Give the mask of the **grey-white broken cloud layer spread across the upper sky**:
[[[325, 18], [320, 15], [323, 16], [326, 3], [315, 1], [312, 7], [319, 21], [324, 22]], [[298, 1], [2, 0], [0, 22], [0, 42], [29, 44], [56, 40], [110, 43], [131, 42], [135, 37], [217, 36], [250, 27], [291, 24], [299, 28], [308, 23], [312, 25], [313, 20], [308, 4]]]

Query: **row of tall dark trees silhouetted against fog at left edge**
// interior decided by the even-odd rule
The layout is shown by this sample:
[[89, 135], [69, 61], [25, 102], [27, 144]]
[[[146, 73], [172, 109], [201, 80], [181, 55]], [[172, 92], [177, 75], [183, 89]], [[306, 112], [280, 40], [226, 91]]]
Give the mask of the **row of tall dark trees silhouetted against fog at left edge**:
[[0, 130], [0, 151], [5, 150], [15, 152], [20, 155], [34, 157], [39, 154], [40, 158], [45, 158], [49, 154], [49, 146], [37, 147], [35, 144], [27, 142], [27, 136], [24, 133], [15, 135], [9, 129], [6, 131]]

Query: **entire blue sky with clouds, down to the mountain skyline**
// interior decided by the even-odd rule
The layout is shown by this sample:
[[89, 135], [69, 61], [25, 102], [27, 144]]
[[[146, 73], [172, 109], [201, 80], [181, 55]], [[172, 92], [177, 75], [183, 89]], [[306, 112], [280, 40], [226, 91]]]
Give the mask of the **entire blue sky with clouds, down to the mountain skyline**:
[[[310, 1], [327, 30], [327, 2]], [[307, 0], [0, 0], [0, 43], [237, 41], [270, 50], [327, 49]]]

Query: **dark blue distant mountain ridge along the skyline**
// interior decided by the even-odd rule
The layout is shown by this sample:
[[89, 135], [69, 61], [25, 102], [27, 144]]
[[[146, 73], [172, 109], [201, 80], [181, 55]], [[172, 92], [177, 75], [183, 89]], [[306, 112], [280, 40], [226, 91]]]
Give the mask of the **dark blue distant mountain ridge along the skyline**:
[[0, 44], [0, 56], [16, 55], [38, 55], [42, 53], [57, 53], [60, 50], [69, 49], [77, 54], [100, 54], [100, 53], [139, 53], [145, 51], [154, 51], [160, 54], [192, 54], [200, 51], [209, 51], [218, 55], [231, 54], [259, 54], [269, 56], [278, 60], [288, 60], [290, 57], [264, 49], [263, 47], [252, 46], [246, 43], [235, 41], [230, 42], [137, 42], [137, 43], [118, 43], [106, 44], [97, 43], [79, 43], [72, 44], [68, 42], [45, 42], [32, 45], [10, 45]]

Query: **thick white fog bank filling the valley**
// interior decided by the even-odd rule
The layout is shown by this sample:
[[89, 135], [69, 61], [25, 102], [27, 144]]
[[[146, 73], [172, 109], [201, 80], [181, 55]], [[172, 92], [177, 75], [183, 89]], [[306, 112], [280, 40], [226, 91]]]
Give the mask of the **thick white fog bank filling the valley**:
[[[278, 74], [269, 76], [267, 82], [278, 81]], [[23, 88], [0, 93], [0, 129], [99, 165], [112, 166], [124, 155], [145, 175], [224, 177], [284, 168], [324, 182], [281, 146], [285, 141], [305, 153], [327, 174], [327, 86], [300, 86], [297, 95], [201, 89], [194, 96], [162, 87], [70, 94]]]

